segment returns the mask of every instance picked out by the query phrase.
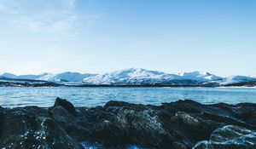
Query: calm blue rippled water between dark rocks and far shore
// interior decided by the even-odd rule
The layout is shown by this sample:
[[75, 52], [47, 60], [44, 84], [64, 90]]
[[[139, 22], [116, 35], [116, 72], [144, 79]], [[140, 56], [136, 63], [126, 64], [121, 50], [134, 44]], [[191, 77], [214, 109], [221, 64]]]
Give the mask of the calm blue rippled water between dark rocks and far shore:
[[0, 88], [1, 106], [52, 106], [56, 97], [75, 106], [102, 106], [108, 100], [160, 105], [175, 100], [211, 104], [256, 102], [256, 89], [238, 88]]

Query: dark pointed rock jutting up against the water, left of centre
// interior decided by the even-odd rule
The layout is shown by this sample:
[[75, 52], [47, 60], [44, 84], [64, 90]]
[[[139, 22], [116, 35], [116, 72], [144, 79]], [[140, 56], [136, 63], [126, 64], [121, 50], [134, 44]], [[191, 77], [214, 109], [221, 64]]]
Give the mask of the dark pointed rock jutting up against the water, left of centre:
[[75, 117], [78, 115], [78, 113], [76, 112], [76, 109], [73, 106], [73, 104], [70, 103], [69, 101], [65, 100], [65, 99], [61, 99], [61, 98], [58, 97], [55, 100], [54, 107], [55, 106], [62, 106], [62, 107], [64, 107], [67, 110], [67, 112], [71, 113]]

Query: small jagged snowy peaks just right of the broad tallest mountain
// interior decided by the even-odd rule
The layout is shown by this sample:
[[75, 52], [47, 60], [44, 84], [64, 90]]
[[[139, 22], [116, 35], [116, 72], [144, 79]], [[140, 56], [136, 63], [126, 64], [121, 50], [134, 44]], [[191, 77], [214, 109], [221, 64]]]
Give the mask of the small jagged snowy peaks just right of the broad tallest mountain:
[[199, 82], [217, 81], [223, 79], [223, 77], [215, 76], [209, 72], [183, 72], [178, 74], [180, 79], [196, 80]]

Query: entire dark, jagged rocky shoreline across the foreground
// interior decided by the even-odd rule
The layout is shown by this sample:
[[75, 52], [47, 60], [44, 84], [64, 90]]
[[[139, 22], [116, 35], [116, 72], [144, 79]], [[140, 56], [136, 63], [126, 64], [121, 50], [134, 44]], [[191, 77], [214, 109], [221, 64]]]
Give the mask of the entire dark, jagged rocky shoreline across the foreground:
[[[256, 104], [202, 105], [178, 100], [161, 106], [108, 101], [74, 107], [57, 98], [49, 108], [0, 106], [0, 148], [256, 148]], [[99, 147], [102, 148], [102, 147]]]

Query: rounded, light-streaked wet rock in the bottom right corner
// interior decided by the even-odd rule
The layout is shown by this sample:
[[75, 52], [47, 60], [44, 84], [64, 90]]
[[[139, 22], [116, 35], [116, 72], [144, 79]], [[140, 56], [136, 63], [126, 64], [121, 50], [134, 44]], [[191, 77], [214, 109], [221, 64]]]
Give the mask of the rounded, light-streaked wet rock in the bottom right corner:
[[212, 132], [210, 140], [197, 143], [194, 149], [253, 149], [256, 148], [256, 131], [227, 125]]

